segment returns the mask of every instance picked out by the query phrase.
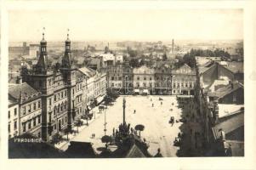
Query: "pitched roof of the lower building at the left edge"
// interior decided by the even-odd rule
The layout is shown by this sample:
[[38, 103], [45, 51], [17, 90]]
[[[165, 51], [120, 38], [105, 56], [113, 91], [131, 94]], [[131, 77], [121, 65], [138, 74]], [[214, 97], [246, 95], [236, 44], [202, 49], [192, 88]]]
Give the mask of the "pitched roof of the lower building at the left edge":
[[9, 85], [9, 96], [14, 99], [33, 97], [34, 95], [40, 94], [36, 89], [32, 88], [26, 82], [21, 84], [11, 84]]

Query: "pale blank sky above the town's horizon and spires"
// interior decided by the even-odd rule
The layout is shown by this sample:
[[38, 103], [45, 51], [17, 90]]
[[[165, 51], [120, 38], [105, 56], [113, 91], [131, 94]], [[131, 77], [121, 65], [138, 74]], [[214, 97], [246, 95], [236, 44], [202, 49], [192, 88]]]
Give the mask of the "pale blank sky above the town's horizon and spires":
[[9, 41], [243, 39], [242, 9], [10, 10]]

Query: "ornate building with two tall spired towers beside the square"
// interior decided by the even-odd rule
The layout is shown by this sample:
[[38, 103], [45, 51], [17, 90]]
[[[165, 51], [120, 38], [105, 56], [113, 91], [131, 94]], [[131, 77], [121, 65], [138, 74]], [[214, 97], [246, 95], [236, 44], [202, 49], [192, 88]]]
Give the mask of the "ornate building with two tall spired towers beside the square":
[[[24, 82], [42, 94], [42, 139], [48, 141], [64, 128], [71, 129], [77, 116], [81, 97], [77, 88], [77, 68], [71, 59], [71, 41], [65, 41], [65, 54], [60, 65], [48, 64], [47, 42], [40, 42], [37, 65], [22, 68]], [[79, 97], [77, 97], [79, 96]], [[78, 100], [79, 98], [79, 100]], [[82, 99], [81, 99], [82, 100]], [[78, 107], [77, 107], [78, 106]]]

